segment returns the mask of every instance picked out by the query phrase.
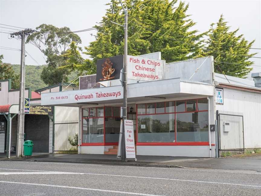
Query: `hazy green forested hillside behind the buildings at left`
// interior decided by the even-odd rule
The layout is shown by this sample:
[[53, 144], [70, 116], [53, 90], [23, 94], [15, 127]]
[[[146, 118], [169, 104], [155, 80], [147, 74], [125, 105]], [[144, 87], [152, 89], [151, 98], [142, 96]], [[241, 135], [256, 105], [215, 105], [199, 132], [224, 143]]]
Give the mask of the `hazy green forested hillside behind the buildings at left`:
[[[31, 87], [32, 90], [47, 87], [47, 85], [41, 80], [41, 73], [43, 66], [25, 65], [25, 87]], [[15, 74], [20, 74], [20, 65], [12, 65]], [[69, 82], [77, 78], [77, 73], [73, 72], [69, 75]]]

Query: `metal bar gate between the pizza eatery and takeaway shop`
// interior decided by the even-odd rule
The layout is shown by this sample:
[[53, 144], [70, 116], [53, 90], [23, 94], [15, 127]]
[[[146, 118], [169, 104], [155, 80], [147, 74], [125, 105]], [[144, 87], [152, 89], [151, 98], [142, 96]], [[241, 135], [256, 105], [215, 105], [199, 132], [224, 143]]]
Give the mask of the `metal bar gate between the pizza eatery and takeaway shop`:
[[56, 121], [54, 123], [53, 152], [77, 154], [78, 128], [79, 128], [79, 122], [77, 120]]

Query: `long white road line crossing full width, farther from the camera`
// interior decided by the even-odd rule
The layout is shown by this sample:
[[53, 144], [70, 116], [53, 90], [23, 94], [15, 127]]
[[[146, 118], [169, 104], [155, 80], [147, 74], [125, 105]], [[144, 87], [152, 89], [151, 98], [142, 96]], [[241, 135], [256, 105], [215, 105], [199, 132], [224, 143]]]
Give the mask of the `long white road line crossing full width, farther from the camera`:
[[[34, 171], [34, 170], [30, 170]], [[100, 176], [114, 176], [114, 177], [125, 177], [125, 178], [144, 178], [144, 179], [155, 179], [155, 180], [169, 180], [169, 181], [184, 181], [184, 182], [197, 182], [197, 183], [208, 183], [208, 184], [221, 184], [221, 185], [235, 185], [235, 186], [246, 186], [246, 187], [257, 187], [261, 188], [261, 185], [245, 185], [245, 184], [234, 184], [225, 182], [211, 182], [211, 181], [198, 181], [198, 180], [182, 180], [175, 178], [155, 178], [155, 177], [143, 177], [143, 176], [128, 176], [128, 175], [113, 175], [113, 174], [95, 174], [95, 173], [77, 173], [77, 172], [0, 172], [0, 175], [8, 174], [86, 174], [86, 175], [100, 175]]]

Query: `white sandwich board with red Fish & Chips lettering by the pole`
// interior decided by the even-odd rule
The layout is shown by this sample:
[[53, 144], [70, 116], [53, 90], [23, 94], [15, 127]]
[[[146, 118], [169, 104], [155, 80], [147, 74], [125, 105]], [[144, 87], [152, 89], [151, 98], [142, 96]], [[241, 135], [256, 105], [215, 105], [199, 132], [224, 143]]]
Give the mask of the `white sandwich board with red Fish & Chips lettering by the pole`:
[[133, 120], [124, 120], [126, 158], [136, 158]]

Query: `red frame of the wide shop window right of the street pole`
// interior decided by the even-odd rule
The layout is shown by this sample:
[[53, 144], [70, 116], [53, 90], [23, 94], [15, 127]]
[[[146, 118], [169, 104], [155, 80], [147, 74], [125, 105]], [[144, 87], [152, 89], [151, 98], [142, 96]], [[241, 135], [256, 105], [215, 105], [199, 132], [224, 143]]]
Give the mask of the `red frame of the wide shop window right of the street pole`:
[[[199, 98], [199, 99], [186, 99], [186, 100], [176, 100], [176, 101], [185, 101], [185, 112], [176, 112], [176, 101], [175, 102], [175, 110], [174, 112], [166, 113], [166, 102], [165, 101], [165, 113], [156, 113], [156, 102], [155, 102], [155, 113], [154, 114], [147, 114], [147, 103], [145, 103], [145, 114], [138, 114], [138, 104], [136, 104], [136, 145], [209, 145], [209, 142], [177, 142], [177, 119], [176, 119], [176, 114], [177, 113], [194, 113], [194, 112], [208, 112], [208, 110], [198, 110], [198, 100], [200, 99], [206, 99], [206, 98]], [[196, 100], [196, 110], [195, 111], [187, 111], [187, 101], [188, 100]], [[144, 103], [139, 103], [139, 104], [144, 104]], [[150, 103], [151, 104], [151, 103]], [[138, 116], [145, 116], [145, 115], [160, 115], [160, 114], [175, 114], [175, 123], [174, 123], [174, 128], [175, 128], [175, 142], [138, 142]], [[209, 125], [209, 122], [208, 122]]]

